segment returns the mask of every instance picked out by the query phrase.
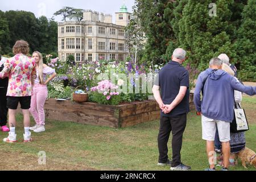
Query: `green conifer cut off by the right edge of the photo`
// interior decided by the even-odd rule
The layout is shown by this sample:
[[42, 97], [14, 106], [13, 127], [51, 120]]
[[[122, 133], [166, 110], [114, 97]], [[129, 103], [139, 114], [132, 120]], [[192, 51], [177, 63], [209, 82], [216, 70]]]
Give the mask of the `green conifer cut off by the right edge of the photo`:
[[238, 30], [236, 51], [238, 76], [242, 80], [256, 81], [256, 1], [249, 0], [243, 9], [242, 24]]

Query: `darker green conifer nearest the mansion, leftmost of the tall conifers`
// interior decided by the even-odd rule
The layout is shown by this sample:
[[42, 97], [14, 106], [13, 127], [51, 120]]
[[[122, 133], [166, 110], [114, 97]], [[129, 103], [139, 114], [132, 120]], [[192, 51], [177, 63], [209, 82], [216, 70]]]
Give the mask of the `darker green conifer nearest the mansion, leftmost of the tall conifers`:
[[163, 62], [168, 45], [175, 39], [171, 26], [174, 3], [169, 0], [137, 0], [136, 10], [147, 38], [143, 60]]

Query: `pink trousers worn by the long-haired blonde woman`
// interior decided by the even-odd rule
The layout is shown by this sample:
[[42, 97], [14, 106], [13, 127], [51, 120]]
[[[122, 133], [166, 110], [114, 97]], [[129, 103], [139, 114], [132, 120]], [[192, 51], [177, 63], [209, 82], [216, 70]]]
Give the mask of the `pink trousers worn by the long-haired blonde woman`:
[[45, 125], [44, 103], [48, 96], [46, 85], [36, 84], [32, 89], [30, 113], [37, 125]]

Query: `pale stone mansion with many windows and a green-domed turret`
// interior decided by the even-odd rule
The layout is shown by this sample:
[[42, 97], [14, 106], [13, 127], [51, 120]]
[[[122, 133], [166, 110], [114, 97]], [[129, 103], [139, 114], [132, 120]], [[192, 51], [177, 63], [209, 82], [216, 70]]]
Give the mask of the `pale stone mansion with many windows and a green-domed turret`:
[[123, 6], [119, 13], [115, 13], [115, 24], [112, 23], [112, 15], [91, 10], [84, 11], [84, 19], [81, 22], [60, 22], [59, 58], [66, 60], [69, 55], [73, 55], [79, 62], [126, 60], [129, 52], [124, 29], [131, 14], [122, 8]]

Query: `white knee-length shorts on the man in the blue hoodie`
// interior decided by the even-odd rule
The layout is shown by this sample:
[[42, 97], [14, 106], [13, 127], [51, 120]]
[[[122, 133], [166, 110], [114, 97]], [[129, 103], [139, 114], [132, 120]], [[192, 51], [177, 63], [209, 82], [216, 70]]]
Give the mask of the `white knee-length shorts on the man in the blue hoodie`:
[[203, 139], [208, 141], [214, 141], [216, 134], [216, 125], [218, 128], [218, 136], [220, 142], [230, 141], [230, 123], [220, 120], [214, 120], [202, 115], [202, 130]]

